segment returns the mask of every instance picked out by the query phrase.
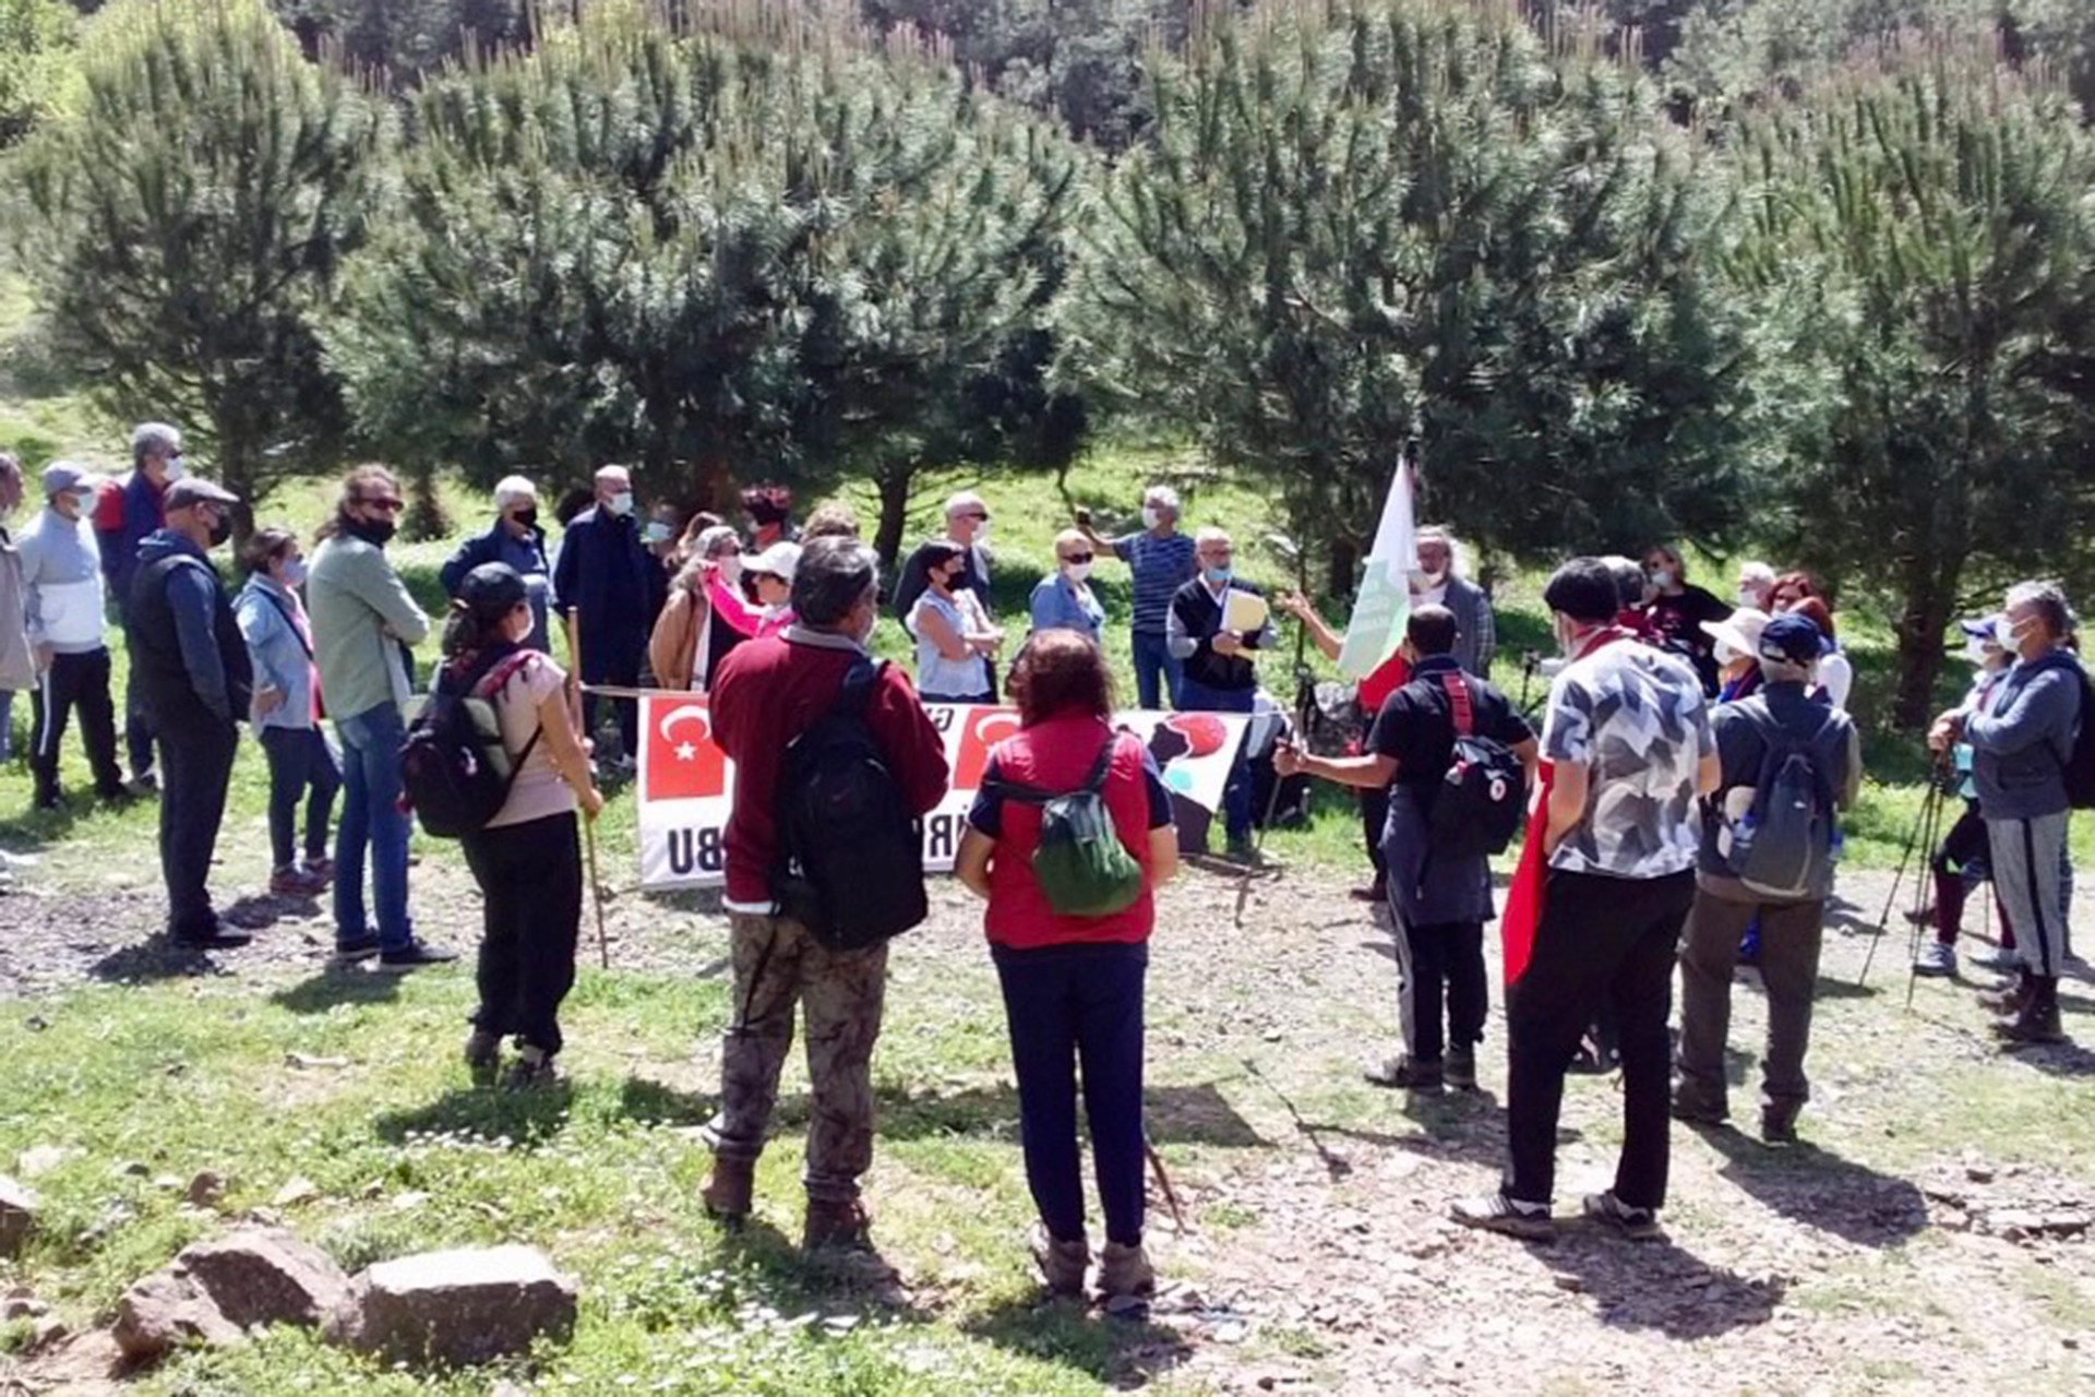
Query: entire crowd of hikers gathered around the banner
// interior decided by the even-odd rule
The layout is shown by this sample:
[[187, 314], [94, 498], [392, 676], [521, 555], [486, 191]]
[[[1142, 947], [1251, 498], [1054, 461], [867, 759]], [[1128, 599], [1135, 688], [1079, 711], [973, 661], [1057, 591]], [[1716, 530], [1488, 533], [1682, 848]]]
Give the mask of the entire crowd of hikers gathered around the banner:
[[[124, 482], [48, 465], [44, 511], [19, 542], [0, 532], [0, 687], [34, 691], [36, 802], [63, 800], [57, 752], [78, 716], [98, 798], [159, 794], [168, 936], [237, 947], [247, 936], [220, 922], [207, 871], [237, 733], [251, 725], [270, 773], [272, 890], [331, 892], [344, 961], [455, 959], [417, 934], [409, 901], [404, 750], [427, 712], [413, 647], [436, 624], [388, 557], [404, 509], [398, 482], [383, 467], [350, 471], [310, 561], [293, 530], [253, 530], [235, 595], [210, 553], [243, 503], [184, 469], [172, 427], [138, 427], [132, 457]], [[23, 484], [0, 457], [0, 515]], [[1154, 1284], [1142, 1246], [1146, 943], [1182, 840], [1152, 754], [1112, 725], [1094, 568], [1104, 553], [1129, 568], [1144, 708], [1169, 697], [1179, 710], [1247, 714], [1276, 622], [1238, 576], [1230, 534], [1179, 532], [1179, 498], [1163, 486], [1123, 536], [1079, 513], [1031, 595], [1027, 639], [1010, 645], [989, 586], [991, 511], [972, 492], [945, 503], [943, 532], [909, 553], [890, 591], [848, 511], [823, 507], [796, 528], [777, 486], [742, 494], [744, 528], [712, 513], [643, 519], [631, 475], [610, 465], [587, 496], [564, 501], [557, 549], [532, 482], [503, 480], [492, 505], [492, 524], [442, 570], [450, 605], [427, 685], [429, 706], [486, 706], [503, 769], [499, 804], [461, 834], [484, 903], [471, 1070], [503, 1072], [513, 1043], [513, 1087], [553, 1081], [585, 896], [580, 831], [603, 806], [599, 773], [633, 760], [641, 689], [704, 691], [735, 762], [723, 840], [733, 1018], [704, 1202], [729, 1219], [752, 1211], [798, 1010], [813, 1093], [807, 1242], [863, 1238], [886, 940], [861, 945], [807, 911], [821, 905], [804, 886], [821, 861], [781, 811], [798, 788], [836, 779], [840, 817], [920, 819], [951, 779], [926, 704], [1001, 695], [1020, 727], [991, 756], [955, 873], [987, 905], [1039, 1211], [1033, 1250], [1050, 1288], [1083, 1290], [1094, 1257], [1081, 1083], [1104, 1206], [1096, 1282], [1108, 1296], [1144, 1294]], [[124, 754], [105, 601], [130, 651]], [[1640, 563], [1580, 557], [1550, 578], [1544, 605], [1561, 660], [1531, 720], [1490, 683], [1487, 593], [1454, 538], [1420, 532], [1402, 643], [1360, 685], [1372, 720], [1358, 750], [1311, 752], [1291, 737], [1272, 762], [1280, 777], [1362, 794], [1376, 869], [1368, 894], [1389, 911], [1399, 968], [1402, 1047], [1370, 1079], [1406, 1091], [1477, 1087], [1490, 857], [1510, 840], [1508, 813], [1517, 823], [1531, 806], [1521, 857], [1542, 894], [1506, 999], [1510, 1162], [1496, 1194], [1456, 1204], [1454, 1217], [1548, 1236], [1565, 1077], [1605, 1022], [1624, 1074], [1624, 1146], [1613, 1188], [1586, 1213], [1649, 1236], [1666, 1202], [1670, 1118], [1728, 1116], [1741, 943], [1758, 943], [1768, 993], [1762, 1133], [1795, 1137], [1839, 813], [1862, 771], [1846, 714], [1852, 668], [1823, 589], [1762, 563], [1741, 568], [1726, 605], [1686, 580], [1670, 547]], [[869, 653], [882, 607], [909, 633], [913, 679]], [[1343, 641], [1307, 599], [1282, 595], [1276, 609], [1337, 658]], [[572, 674], [553, 658], [559, 622]], [[1999, 995], [2011, 1043], [2061, 1033], [2068, 771], [2087, 685], [2072, 628], [2059, 589], [2011, 589], [2001, 616], [1965, 626], [1980, 679], [1932, 733], [1969, 773], [1969, 804], [1936, 852], [1940, 936], [1921, 968], [1955, 966], [1965, 890], [1990, 869], [2003, 943], [2015, 949], [2015, 980]], [[616, 762], [593, 752], [593, 716], [618, 733]], [[1221, 802], [1226, 852], [1238, 859], [1253, 857], [1247, 752], [1249, 741]], [[922, 880], [909, 863], [895, 873]]]

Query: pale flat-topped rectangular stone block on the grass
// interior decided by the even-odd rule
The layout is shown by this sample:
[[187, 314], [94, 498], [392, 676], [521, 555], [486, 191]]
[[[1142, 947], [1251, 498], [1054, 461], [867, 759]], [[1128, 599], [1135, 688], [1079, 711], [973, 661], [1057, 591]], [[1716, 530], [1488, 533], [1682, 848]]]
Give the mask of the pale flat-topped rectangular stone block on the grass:
[[480, 1363], [574, 1330], [574, 1282], [534, 1246], [425, 1252], [362, 1276], [360, 1347]]

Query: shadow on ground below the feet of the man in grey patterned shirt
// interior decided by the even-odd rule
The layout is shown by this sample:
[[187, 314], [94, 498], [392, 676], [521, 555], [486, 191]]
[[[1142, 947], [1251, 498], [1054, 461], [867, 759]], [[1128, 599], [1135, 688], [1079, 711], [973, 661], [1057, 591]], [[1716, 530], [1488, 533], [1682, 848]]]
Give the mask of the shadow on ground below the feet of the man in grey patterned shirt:
[[[1563, 1223], [1552, 1246], [1536, 1246], [1565, 1288], [1592, 1301], [1613, 1330], [1655, 1330], [1680, 1343], [1766, 1324], [1783, 1303], [1781, 1280], [1747, 1280], [1714, 1267], [1670, 1238], [1628, 1242], [1598, 1223]], [[1559, 1282], [1563, 1284], [1563, 1280]]]

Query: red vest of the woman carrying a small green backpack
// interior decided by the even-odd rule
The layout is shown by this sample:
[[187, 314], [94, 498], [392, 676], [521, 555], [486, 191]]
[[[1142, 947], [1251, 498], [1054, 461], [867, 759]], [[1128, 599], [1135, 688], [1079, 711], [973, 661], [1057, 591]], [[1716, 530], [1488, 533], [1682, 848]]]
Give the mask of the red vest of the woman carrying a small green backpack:
[[[1150, 829], [1171, 823], [1169, 798], [1152, 804], [1150, 777], [1144, 771], [1144, 748], [1129, 733], [1112, 735], [1112, 767], [1106, 771], [1104, 798], [1121, 844], [1142, 865], [1142, 896], [1110, 917], [1064, 917], [1048, 907], [1048, 896], [1033, 878], [1033, 850], [1041, 838], [1039, 806], [1020, 800], [999, 800], [995, 779], [1035, 785], [1048, 792], [1077, 790], [1098, 750], [1112, 735], [1098, 716], [1087, 712], [1056, 714], [1006, 737], [991, 752], [991, 775], [983, 779], [983, 796], [968, 817], [976, 829], [997, 840], [989, 861], [989, 911], [983, 926], [989, 940], [1014, 951], [1058, 947], [1071, 943], [1140, 943], [1150, 938], [1156, 922], [1150, 882]], [[1159, 817], [1161, 815], [1161, 817]]]

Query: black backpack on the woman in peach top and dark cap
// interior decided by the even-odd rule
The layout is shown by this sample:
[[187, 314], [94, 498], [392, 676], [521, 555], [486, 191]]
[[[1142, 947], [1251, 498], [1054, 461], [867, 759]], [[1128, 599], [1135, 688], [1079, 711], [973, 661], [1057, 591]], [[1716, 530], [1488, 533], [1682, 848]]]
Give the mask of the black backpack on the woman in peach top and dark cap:
[[448, 666], [436, 672], [429, 697], [400, 744], [400, 790], [423, 831], [457, 840], [486, 829], [501, 815], [517, 771], [538, 746], [538, 733], [511, 758], [494, 704], [480, 689], [490, 679], [488, 691], [501, 689], [532, 653], [494, 651], [476, 660], [457, 683], [446, 679]]

